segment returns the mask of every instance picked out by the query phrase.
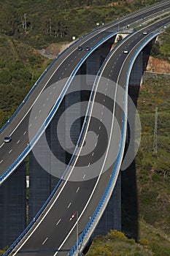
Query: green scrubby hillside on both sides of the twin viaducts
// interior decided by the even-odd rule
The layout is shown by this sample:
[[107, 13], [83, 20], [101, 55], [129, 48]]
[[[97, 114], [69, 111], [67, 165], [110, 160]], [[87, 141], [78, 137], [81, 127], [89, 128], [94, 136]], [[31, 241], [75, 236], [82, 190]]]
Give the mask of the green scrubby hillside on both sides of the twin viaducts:
[[[51, 62], [40, 55], [38, 49], [52, 44], [61, 49], [72, 41], [73, 35], [80, 37], [96, 28], [96, 23], [108, 23], [154, 2], [0, 0], [0, 126], [18, 108]], [[169, 61], [169, 42], [170, 29], [166, 29], [152, 55]], [[88, 256], [170, 255], [169, 96], [169, 77], [163, 75], [144, 80], [139, 92], [137, 105], [142, 122], [142, 141], [135, 159], [138, 243], [114, 231], [104, 238], [96, 238]], [[157, 154], [153, 153], [155, 107], [158, 107]], [[125, 223], [126, 230], [127, 223], [133, 225], [133, 219], [130, 217]]]

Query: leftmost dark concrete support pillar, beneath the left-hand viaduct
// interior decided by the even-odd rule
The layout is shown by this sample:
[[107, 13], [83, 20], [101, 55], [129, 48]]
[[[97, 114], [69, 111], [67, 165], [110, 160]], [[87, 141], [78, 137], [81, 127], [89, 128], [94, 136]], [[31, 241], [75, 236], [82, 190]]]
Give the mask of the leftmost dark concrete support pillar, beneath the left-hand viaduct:
[[0, 248], [10, 246], [26, 227], [26, 163], [0, 187]]

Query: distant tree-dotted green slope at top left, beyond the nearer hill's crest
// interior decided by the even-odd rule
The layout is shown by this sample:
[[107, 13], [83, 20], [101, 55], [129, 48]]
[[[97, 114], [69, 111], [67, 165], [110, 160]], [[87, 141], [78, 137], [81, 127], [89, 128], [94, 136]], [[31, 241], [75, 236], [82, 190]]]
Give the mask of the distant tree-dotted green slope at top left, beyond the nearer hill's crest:
[[156, 1], [111, 0], [0, 0], [0, 34], [9, 35], [34, 48], [72, 40], [128, 12]]

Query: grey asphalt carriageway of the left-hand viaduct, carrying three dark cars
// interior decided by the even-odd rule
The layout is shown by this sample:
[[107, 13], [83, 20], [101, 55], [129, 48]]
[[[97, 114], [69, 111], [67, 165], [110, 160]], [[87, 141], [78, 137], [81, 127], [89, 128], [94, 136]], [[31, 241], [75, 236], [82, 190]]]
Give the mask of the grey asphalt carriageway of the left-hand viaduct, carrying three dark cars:
[[[136, 20], [142, 20], [145, 17], [150, 17], [150, 15], [152, 15], [153, 13], [163, 12], [163, 10], [166, 10], [169, 7], [169, 1], [163, 1], [156, 6], [147, 7], [147, 9], [145, 10], [140, 10], [139, 12], [136, 12], [134, 14], [132, 13], [127, 17], [124, 17], [123, 19], [116, 20], [115, 22], [110, 23], [107, 26], [101, 27], [98, 30], [93, 31], [91, 34], [88, 34], [88, 36], [80, 39], [79, 42], [76, 42], [68, 50], [66, 50], [66, 52], [63, 53], [55, 61], [53, 66], [46, 72], [42, 80], [40, 80], [39, 85], [25, 102], [23, 108], [21, 108], [15, 118], [8, 124], [7, 128], [4, 129], [3, 132], [1, 132], [0, 175], [12, 165], [15, 159], [17, 159], [18, 156], [26, 148], [26, 146], [28, 146], [28, 143], [30, 143], [30, 139], [28, 138], [28, 129], [33, 124], [29, 123], [29, 116], [34, 103], [39, 98], [39, 95], [42, 94], [42, 91], [45, 91], [45, 89], [47, 89], [54, 83], [57, 83], [63, 78], [66, 78], [66, 80], [67, 78], [69, 78], [74, 68], [77, 67], [82, 58], [88, 54], [87, 51], [85, 51], [86, 46], [89, 46], [93, 49], [99, 42], [102, 43], [104, 42], [104, 39], [107, 40], [107, 37], [109, 37], [109, 35], [112, 37], [112, 32], [116, 31], [117, 27], [125, 27], [130, 23], [136, 22]], [[78, 45], [82, 45], [83, 50], [78, 51]], [[90, 53], [92, 53], [92, 51]], [[37, 110], [37, 113], [34, 117], [34, 127], [36, 127], [34, 135], [47, 118], [47, 114], [50, 112], [51, 108], [57, 101], [59, 95], [61, 95], [63, 86], [63, 83], [60, 87], [55, 86], [55, 88], [53, 89], [54, 91], [50, 91], [49, 95], [47, 95], [47, 98], [45, 99], [45, 102], [42, 103], [42, 106], [39, 106], [39, 109]], [[51, 95], [55, 95], [55, 97], [53, 97], [53, 100], [51, 99]], [[3, 142], [4, 137], [7, 135], [10, 135], [12, 137], [12, 141], [10, 143]], [[13, 170], [15, 170], [15, 168]], [[3, 181], [5, 180], [5, 178], [3, 179]], [[1, 184], [3, 181], [1, 181]]]

